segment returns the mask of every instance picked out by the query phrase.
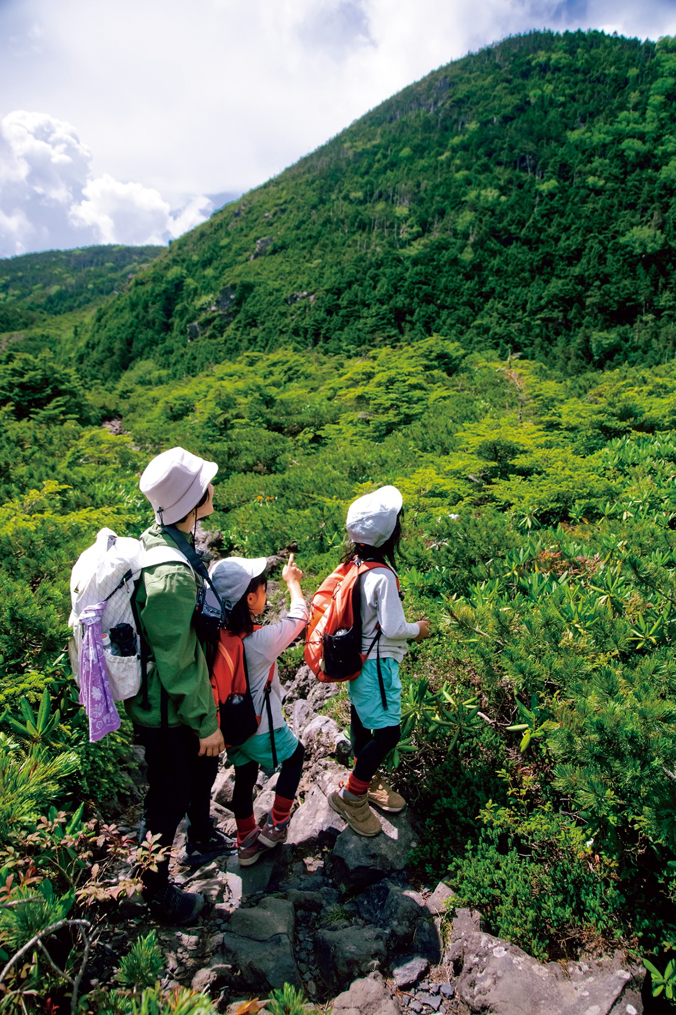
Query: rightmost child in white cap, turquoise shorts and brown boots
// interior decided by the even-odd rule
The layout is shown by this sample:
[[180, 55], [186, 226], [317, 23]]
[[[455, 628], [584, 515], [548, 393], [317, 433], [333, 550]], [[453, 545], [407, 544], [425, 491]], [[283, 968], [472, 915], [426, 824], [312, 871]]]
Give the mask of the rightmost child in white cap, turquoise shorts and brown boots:
[[402, 535], [402, 503], [396, 486], [382, 486], [351, 503], [347, 513], [351, 543], [344, 562], [358, 559], [383, 564], [366, 571], [360, 586], [361, 652], [366, 659], [359, 676], [348, 683], [354, 768], [347, 786], [329, 798], [332, 809], [359, 835], [377, 835], [382, 829], [369, 803], [395, 814], [406, 806], [378, 769], [401, 735], [399, 663], [408, 652], [406, 641], [429, 637], [426, 620], [407, 623], [399, 596], [395, 563]]

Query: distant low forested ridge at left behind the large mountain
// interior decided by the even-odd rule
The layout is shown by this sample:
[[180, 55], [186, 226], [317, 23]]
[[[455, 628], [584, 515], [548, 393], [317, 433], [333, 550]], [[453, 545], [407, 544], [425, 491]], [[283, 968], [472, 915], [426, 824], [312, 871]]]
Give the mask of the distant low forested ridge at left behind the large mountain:
[[0, 334], [49, 324], [122, 292], [162, 247], [85, 247], [0, 260]]

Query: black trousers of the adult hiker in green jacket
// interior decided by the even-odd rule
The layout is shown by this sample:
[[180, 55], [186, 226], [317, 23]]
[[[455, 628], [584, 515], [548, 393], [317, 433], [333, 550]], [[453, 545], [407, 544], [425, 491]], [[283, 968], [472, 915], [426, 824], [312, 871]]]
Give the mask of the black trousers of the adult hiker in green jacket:
[[[167, 851], [177, 828], [188, 815], [191, 839], [200, 841], [211, 832], [211, 789], [218, 771], [218, 757], [199, 756], [199, 740], [187, 726], [151, 729], [134, 726], [136, 740], [145, 748], [148, 792], [145, 795], [140, 837], [159, 835]], [[143, 875], [146, 890], [153, 894], [168, 880], [168, 857], [157, 871]]]

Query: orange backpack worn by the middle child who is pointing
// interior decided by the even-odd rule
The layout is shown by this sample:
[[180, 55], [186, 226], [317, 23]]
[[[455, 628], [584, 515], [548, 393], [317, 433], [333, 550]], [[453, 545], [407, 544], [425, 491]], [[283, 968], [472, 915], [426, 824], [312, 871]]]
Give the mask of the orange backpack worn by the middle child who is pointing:
[[[261, 625], [257, 624], [254, 630]], [[256, 715], [254, 699], [249, 686], [247, 654], [244, 650], [246, 634], [232, 634], [221, 628], [218, 649], [210, 674], [211, 690], [218, 709], [218, 726], [223, 734], [226, 747], [239, 747], [253, 737], [261, 725], [261, 717]], [[272, 726], [270, 692], [275, 673], [274, 663], [270, 667], [265, 683], [265, 707], [268, 714], [272, 763], [277, 767], [275, 734]]]

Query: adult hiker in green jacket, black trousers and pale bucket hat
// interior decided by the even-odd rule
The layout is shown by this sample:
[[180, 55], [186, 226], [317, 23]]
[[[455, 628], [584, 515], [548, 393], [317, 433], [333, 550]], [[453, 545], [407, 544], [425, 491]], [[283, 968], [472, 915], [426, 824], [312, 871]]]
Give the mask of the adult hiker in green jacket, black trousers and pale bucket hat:
[[[194, 534], [198, 519], [213, 512], [211, 480], [217, 470], [215, 462], [172, 448], [153, 458], [141, 476], [140, 488], [155, 513], [155, 524], [141, 537], [144, 559], [151, 561], [155, 550], [165, 561], [167, 548], [175, 559], [144, 564], [135, 608], [148, 656], [147, 679], [125, 702], [148, 768], [141, 837], [158, 834], [168, 851], [187, 815], [185, 861], [193, 867], [230, 853], [233, 844], [210, 816], [224, 744], [196, 630], [196, 606], [208, 584]], [[166, 923], [188, 924], [204, 905], [203, 895], [184, 892], [170, 881], [168, 858], [156, 872], [143, 875], [143, 886], [152, 916]]]

